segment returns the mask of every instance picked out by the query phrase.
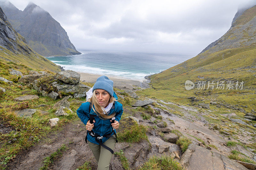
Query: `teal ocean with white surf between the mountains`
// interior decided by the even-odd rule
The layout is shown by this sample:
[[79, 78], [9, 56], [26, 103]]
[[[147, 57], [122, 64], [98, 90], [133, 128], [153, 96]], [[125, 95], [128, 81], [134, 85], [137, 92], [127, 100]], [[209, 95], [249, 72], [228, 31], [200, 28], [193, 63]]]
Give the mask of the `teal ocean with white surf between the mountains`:
[[193, 57], [161, 53], [78, 51], [82, 54], [47, 59], [65, 70], [144, 80], [146, 75], [160, 73]]

